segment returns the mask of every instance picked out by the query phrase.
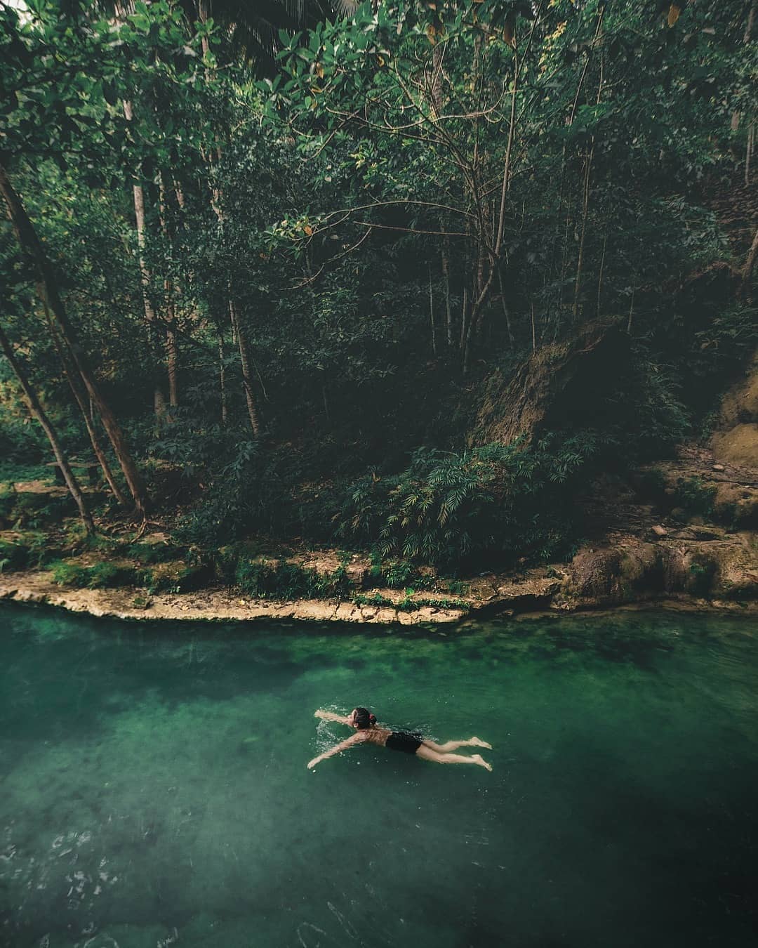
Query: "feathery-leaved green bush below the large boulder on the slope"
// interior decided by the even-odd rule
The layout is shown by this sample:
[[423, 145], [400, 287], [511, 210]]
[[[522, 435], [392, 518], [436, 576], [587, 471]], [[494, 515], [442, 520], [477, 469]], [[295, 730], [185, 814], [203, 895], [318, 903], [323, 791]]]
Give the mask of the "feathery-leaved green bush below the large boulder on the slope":
[[420, 448], [396, 477], [355, 483], [338, 532], [378, 535], [382, 556], [447, 567], [485, 554], [549, 558], [568, 541], [566, 501], [596, 449], [587, 432], [461, 454]]

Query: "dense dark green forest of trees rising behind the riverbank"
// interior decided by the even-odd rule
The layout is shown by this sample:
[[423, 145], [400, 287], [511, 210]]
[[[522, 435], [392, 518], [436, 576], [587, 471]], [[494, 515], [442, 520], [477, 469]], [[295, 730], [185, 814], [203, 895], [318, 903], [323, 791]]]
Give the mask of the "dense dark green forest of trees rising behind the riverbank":
[[0, 561], [575, 555], [758, 344], [757, 9], [0, 0]]

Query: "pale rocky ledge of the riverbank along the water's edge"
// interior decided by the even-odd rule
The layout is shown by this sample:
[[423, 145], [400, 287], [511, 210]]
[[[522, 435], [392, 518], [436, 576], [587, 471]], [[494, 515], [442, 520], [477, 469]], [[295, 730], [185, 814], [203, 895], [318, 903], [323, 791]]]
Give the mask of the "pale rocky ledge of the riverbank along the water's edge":
[[[567, 612], [641, 604], [758, 614], [758, 538], [710, 525], [668, 529], [650, 539], [615, 535], [588, 545], [569, 563], [520, 573], [481, 574], [455, 582], [454, 597], [428, 591], [370, 589], [360, 556], [348, 566], [353, 592], [319, 599], [253, 598], [232, 587], [150, 593], [138, 587], [68, 589], [47, 571], [0, 574], [0, 599], [46, 603], [71, 611], [128, 619], [301, 619], [419, 625], [458, 623], [468, 617]], [[331, 557], [310, 560], [331, 570]]]

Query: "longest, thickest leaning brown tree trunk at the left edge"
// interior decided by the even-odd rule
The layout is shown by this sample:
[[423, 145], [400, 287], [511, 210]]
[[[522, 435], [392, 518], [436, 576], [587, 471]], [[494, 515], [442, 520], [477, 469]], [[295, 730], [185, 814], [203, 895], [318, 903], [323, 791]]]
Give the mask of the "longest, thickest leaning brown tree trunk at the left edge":
[[102, 397], [99, 386], [90, 371], [86, 358], [76, 343], [73, 327], [68, 321], [68, 315], [63, 306], [63, 300], [58, 292], [58, 284], [56, 283], [52, 267], [45, 256], [45, 250], [40, 243], [27, 211], [21, 203], [18, 194], [13, 190], [8, 174], [2, 165], [0, 165], [0, 192], [2, 192], [5, 202], [8, 205], [10, 219], [13, 222], [13, 228], [16, 231], [18, 242], [34, 261], [34, 264], [36, 264], [39, 275], [37, 293], [43, 305], [48, 308], [56, 320], [61, 330], [61, 337], [63, 338], [65, 347], [77, 371], [81, 375], [81, 381], [84, 383], [87, 393], [98, 408], [103, 427], [116, 451], [118, 464], [121, 466], [130, 493], [134, 498], [136, 511], [144, 519], [148, 507], [145, 485], [136, 468], [132, 455], [129, 452], [126, 439], [117, 423], [116, 416]]

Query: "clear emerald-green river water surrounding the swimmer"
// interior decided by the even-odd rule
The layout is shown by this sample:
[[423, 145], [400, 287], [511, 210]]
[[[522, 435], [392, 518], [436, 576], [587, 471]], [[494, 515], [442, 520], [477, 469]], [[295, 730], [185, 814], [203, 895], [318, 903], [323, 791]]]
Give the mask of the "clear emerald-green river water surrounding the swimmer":
[[[754, 945], [755, 623], [445, 631], [0, 608], [0, 945]], [[307, 771], [356, 703], [495, 771]]]

